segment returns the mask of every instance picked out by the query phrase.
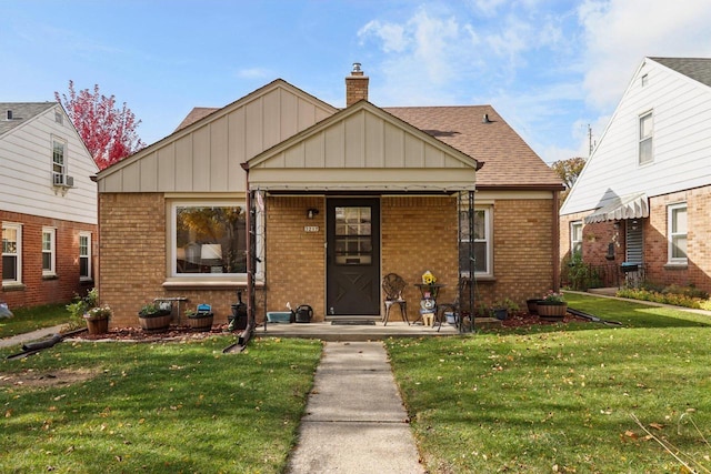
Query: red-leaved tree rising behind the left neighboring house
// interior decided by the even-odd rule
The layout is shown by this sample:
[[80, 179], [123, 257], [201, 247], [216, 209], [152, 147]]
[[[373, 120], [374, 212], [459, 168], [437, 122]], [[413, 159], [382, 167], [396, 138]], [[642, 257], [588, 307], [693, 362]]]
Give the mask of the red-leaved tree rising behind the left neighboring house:
[[136, 133], [141, 121], [136, 120], [126, 102], [118, 109], [113, 95], [99, 93], [98, 84], [93, 87], [93, 92], [89, 89], [77, 91], [74, 82], [69, 81], [69, 95], [60, 97], [59, 92], [54, 92], [54, 99], [67, 110], [99, 170], [146, 147]]

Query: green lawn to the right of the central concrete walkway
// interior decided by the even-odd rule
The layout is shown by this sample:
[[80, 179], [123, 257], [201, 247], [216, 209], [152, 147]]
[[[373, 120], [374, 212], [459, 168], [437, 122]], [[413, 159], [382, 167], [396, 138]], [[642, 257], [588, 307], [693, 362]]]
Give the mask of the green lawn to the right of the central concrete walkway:
[[568, 300], [623, 326], [387, 342], [430, 472], [709, 472], [711, 319]]

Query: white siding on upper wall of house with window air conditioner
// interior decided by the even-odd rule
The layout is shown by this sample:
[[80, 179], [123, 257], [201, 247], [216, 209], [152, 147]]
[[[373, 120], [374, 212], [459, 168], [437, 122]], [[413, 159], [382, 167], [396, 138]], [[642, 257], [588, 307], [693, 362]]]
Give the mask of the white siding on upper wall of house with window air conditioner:
[[[57, 109], [63, 123], [54, 119]], [[64, 162], [73, 188], [53, 185], [52, 137], [67, 143]], [[91, 177], [99, 170], [59, 104], [2, 135], [0, 162], [3, 211], [97, 224], [97, 184]]]

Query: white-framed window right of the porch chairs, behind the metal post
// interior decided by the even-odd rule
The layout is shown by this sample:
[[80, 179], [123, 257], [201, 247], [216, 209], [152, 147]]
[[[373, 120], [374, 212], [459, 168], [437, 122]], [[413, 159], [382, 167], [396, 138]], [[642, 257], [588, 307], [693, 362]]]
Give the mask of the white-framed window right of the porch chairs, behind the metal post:
[[475, 208], [473, 211], [473, 234], [469, 228], [469, 211], [462, 210], [459, 213], [460, 242], [459, 242], [459, 264], [467, 272], [470, 264], [469, 242], [472, 242], [471, 258], [474, 274], [492, 275], [492, 241], [491, 241], [491, 209]]

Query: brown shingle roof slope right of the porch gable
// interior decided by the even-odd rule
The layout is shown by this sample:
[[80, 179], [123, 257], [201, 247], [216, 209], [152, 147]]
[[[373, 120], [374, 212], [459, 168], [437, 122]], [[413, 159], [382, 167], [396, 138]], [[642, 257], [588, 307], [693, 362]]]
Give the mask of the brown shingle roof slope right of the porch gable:
[[[560, 188], [558, 175], [491, 105], [394, 107], [387, 112], [484, 165], [477, 188]], [[487, 115], [489, 122], [484, 123]]]

